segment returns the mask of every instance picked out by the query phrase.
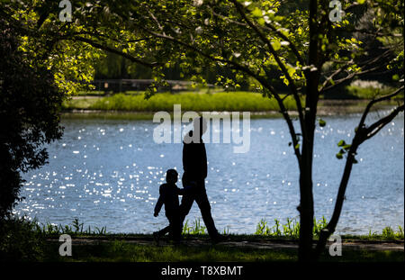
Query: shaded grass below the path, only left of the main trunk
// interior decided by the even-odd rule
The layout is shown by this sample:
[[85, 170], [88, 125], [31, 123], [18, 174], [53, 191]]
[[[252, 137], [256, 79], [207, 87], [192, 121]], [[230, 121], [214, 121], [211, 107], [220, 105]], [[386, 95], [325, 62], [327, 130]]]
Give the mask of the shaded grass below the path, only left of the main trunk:
[[190, 262], [190, 261], [294, 261], [295, 250], [229, 248], [225, 246], [146, 246], [121, 240], [80, 245], [72, 248], [72, 257], [58, 256], [59, 244], [49, 244], [49, 261], [103, 262]]

